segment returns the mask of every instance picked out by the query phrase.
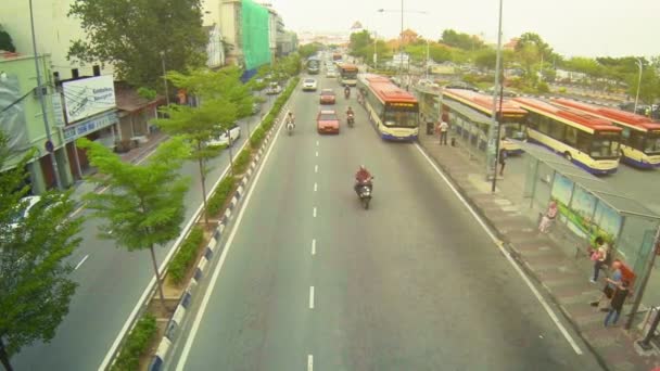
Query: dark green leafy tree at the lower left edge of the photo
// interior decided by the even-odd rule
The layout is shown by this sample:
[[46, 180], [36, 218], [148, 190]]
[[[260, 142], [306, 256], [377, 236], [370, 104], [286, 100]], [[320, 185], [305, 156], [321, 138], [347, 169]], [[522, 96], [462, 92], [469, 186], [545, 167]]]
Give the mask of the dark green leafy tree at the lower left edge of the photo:
[[[35, 341], [50, 342], [68, 312], [76, 283], [64, 260], [80, 244], [80, 219], [67, 218], [74, 209], [69, 193], [40, 195], [27, 218], [14, 219], [28, 189], [24, 170], [34, 153], [0, 176], [0, 362]], [[7, 138], [0, 130], [0, 168], [9, 159]]]

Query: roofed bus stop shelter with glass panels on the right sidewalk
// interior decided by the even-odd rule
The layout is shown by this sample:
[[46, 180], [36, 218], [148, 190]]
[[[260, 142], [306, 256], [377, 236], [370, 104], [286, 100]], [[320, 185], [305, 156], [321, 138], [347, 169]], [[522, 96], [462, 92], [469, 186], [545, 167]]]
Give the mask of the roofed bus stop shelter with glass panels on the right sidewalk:
[[[614, 258], [637, 278], [647, 277], [660, 216], [563, 157], [537, 145], [520, 144], [528, 154], [524, 197], [530, 199], [530, 207], [545, 210], [556, 201], [556, 222], [563, 223], [585, 246], [595, 236], [604, 236], [613, 246]], [[640, 284], [642, 280], [635, 280], [634, 292]]]

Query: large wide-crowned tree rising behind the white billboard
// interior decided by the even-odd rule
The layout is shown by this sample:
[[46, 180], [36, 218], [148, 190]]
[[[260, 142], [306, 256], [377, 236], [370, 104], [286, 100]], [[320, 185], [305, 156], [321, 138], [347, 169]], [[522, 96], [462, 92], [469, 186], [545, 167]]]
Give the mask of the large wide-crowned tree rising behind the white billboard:
[[112, 63], [119, 79], [161, 88], [161, 52], [170, 71], [199, 67], [207, 36], [200, 0], [75, 0], [69, 16], [80, 20], [86, 40], [75, 40], [68, 57]]

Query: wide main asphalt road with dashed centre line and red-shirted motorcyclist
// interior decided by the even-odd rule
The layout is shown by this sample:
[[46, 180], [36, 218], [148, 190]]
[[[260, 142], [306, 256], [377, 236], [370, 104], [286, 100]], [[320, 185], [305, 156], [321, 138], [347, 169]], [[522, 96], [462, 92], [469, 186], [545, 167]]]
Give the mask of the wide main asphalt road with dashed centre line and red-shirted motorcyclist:
[[[600, 369], [415, 144], [381, 141], [361, 107], [321, 137], [318, 94], [293, 103], [295, 135], [266, 157], [170, 370]], [[360, 164], [369, 210], [352, 188]]]

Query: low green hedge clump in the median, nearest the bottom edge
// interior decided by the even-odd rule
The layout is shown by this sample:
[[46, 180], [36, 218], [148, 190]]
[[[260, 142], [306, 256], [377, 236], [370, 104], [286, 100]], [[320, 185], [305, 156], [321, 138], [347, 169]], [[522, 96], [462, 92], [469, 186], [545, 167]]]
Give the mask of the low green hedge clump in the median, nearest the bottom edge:
[[112, 370], [137, 370], [140, 364], [140, 356], [147, 351], [147, 347], [149, 347], [156, 333], [156, 318], [152, 314], [145, 314], [128, 335]]

